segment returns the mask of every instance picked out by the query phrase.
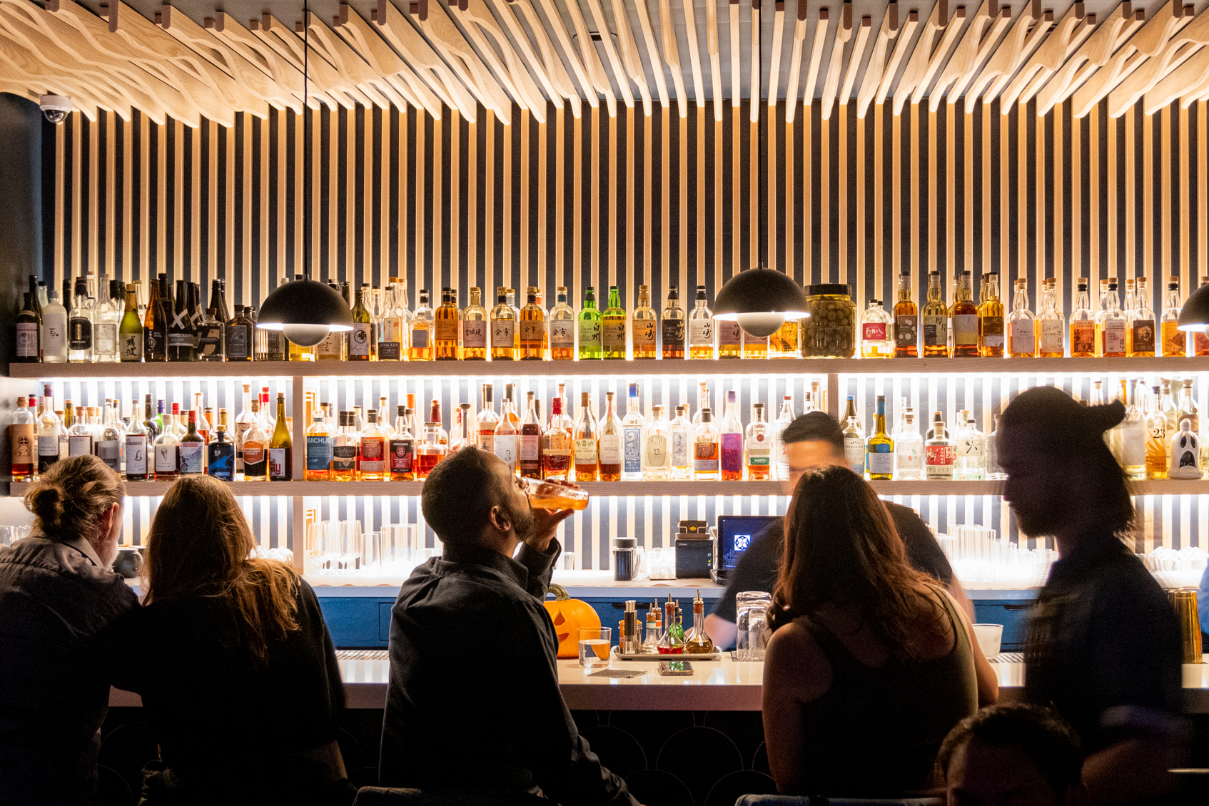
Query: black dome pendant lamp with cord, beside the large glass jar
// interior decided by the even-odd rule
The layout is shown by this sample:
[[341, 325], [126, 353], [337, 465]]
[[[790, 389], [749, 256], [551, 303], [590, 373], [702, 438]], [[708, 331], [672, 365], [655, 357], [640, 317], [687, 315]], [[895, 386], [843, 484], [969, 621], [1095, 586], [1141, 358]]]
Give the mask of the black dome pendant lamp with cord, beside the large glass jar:
[[[763, 36], [756, 37], [763, 45]], [[763, 53], [760, 53], [763, 58]], [[759, 63], [759, 62], [757, 62]], [[758, 104], [759, 98], [752, 98], [751, 103]], [[775, 108], [774, 108], [775, 109]], [[764, 210], [764, 169], [768, 161], [768, 117], [764, 115], [763, 133], [759, 138], [758, 149], [759, 167], [757, 168], [757, 198], [759, 199], [759, 220], [767, 221]], [[762, 227], [759, 237], [759, 249], [764, 253], [768, 244], [767, 230]], [[764, 338], [775, 334], [786, 319], [803, 319], [806, 315], [806, 295], [798, 285], [797, 280], [786, 274], [769, 269], [763, 260], [758, 268], [750, 268], [739, 272], [722, 286], [713, 302], [713, 318], [722, 321], [737, 321], [739, 326], [750, 336]]]

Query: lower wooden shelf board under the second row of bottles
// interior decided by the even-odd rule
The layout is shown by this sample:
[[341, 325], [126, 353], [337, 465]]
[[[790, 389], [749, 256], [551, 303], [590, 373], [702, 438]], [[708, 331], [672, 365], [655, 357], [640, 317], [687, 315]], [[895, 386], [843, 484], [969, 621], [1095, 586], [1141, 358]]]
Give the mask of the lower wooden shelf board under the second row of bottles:
[[[879, 495], [1000, 495], [1002, 481], [873, 481]], [[10, 485], [24, 495], [30, 482]], [[131, 481], [127, 495], [163, 495], [170, 481]], [[592, 495], [783, 495], [780, 481], [589, 481]], [[418, 495], [422, 481], [236, 481], [236, 495]], [[1209, 495], [1209, 480], [1153, 480], [1132, 485], [1135, 495]]]

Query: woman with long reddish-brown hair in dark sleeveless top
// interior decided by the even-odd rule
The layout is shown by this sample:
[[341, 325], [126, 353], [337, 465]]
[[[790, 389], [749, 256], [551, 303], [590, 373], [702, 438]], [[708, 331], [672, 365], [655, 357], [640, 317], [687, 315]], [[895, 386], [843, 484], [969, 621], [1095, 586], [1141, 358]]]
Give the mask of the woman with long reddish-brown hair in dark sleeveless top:
[[783, 794], [922, 790], [945, 733], [999, 694], [961, 608], [844, 466], [798, 482], [769, 622], [764, 740]]

